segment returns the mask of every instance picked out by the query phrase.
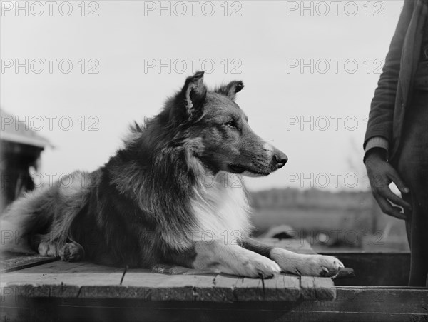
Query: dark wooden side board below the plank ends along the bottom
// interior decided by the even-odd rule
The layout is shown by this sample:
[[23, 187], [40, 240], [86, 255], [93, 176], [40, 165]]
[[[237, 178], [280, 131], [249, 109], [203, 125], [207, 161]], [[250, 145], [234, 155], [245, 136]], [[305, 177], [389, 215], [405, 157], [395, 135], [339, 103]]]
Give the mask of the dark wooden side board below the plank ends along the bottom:
[[338, 287], [335, 301], [141, 301], [26, 298], [1, 321], [427, 321], [427, 288]]

